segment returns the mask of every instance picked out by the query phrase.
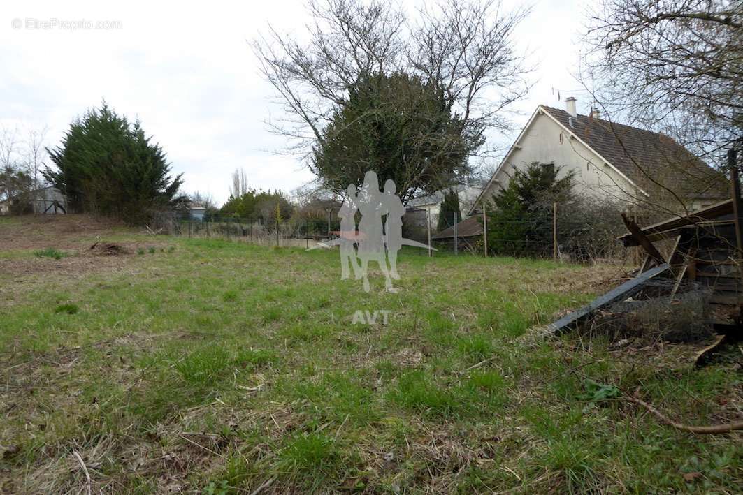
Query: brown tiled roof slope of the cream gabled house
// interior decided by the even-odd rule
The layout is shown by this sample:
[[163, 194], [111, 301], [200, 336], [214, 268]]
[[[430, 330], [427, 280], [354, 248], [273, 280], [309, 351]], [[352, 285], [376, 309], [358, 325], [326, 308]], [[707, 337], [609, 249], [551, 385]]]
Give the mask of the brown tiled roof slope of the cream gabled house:
[[671, 137], [587, 115], [571, 117], [559, 108], [542, 108], [642, 189], [658, 181], [687, 199], [727, 197], [722, 174]]

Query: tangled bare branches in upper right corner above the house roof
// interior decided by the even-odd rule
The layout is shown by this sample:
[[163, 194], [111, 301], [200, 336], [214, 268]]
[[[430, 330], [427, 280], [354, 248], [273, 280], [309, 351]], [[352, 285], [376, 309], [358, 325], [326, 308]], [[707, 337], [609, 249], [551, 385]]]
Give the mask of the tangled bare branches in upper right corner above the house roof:
[[743, 135], [743, 3], [605, 0], [586, 59], [597, 99], [718, 156]]

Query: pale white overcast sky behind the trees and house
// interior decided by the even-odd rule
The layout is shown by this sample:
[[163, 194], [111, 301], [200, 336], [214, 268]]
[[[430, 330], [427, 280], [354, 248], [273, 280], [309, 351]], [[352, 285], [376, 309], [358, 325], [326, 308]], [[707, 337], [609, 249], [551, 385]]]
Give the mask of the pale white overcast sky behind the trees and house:
[[[414, 10], [420, 1], [403, 1]], [[507, 1], [506, 5], [516, 5]], [[534, 2], [519, 29], [533, 53], [536, 85], [518, 105], [525, 123], [539, 103], [560, 106], [572, 94], [585, 113], [576, 73], [585, 1]], [[139, 117], [160, 142], [186, 191], [228, 196], [230, 173], [242, 167], [250, 185], [291, 191], [312, 179], [299, 160], [278, 155], [284, 144], [264, 124], [279, 112], [248, 42], [266, 29], [299, 31], [304, 1], [7, 1], [0, 2], [0, 125], [48, 126], [57, 145], [71, 119], [101, 99]], [[36, 22], [54, 22], [42, 28]], [[111, 29], [65, 22], [116, 22]], [[583, 96], [583, 98], [581, 98]], [[510, 144], [513, 135], [490, 138]]]

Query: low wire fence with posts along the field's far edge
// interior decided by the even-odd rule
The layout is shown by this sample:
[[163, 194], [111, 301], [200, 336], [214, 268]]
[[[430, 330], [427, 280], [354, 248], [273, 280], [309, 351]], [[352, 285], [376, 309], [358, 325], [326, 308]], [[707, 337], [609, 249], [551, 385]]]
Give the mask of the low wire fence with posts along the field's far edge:
[[[548, 215], [530, 220], [491, 220], [478, 214], [461, 220], [457, 214], [448, 220], [426, 211], [409, 212], [403, 217], [403, 237], [428, 244], [434, 249], [405, 249], [423, 256], [478, 255], [554, 258], [556, 260], [626, 260], [634, 250], [617, 242], [616, 229], [597, 226], [563, 225], [557, 207]], [[565, 220], [567, 223], [568, 220]], [[266, 220], [262, 217], [159, 218], [152, 230], [192, 238], [224, 238], [259, 246], [310, 248], [339, 235], [340, 219], [326, 218]], [[445, 237], [441, 237], [444, 233]]]

